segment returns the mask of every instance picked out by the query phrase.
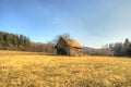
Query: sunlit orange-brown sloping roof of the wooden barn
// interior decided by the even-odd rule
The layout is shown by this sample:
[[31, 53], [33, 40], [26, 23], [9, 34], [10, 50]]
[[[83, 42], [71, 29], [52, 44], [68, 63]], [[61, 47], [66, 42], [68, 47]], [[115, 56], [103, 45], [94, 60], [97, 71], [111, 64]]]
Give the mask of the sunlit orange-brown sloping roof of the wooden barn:
[[82, 48], [81, 45], [74, 39], [68, 39], [66, 37], [61, 37], [69, 46], [74, 48]]

